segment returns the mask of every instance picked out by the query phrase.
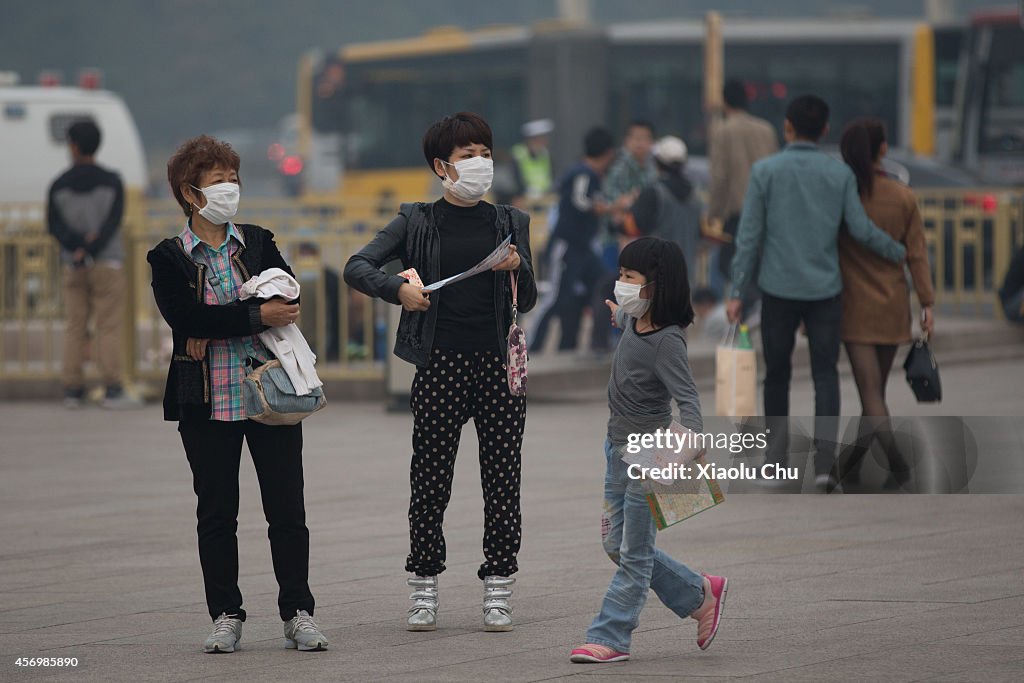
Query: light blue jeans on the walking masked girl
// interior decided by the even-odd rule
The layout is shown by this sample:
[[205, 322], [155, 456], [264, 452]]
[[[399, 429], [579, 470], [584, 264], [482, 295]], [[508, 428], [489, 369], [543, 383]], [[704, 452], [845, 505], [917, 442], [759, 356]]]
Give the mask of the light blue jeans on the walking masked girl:
[[642, 482], [629, 478], [629, 465], [607, 440], [604, 457], [601, 539], [604, 552], [618, 568], [604, 594], [601, 611], [587, 630], [587, 642], [629, 652], [647, 589], [653, 589], [666, 607], [685, 617], [703, 601], [703, 578], [654, 547], [657, 527]]

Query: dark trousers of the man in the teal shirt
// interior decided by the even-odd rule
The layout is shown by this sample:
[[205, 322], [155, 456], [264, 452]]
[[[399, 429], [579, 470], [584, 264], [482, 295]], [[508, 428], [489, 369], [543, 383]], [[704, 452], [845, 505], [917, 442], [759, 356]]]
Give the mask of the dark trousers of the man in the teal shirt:
[[814, 381], [814, 470], [827, 473], [836, 460], [839, 435], [839, 295], [816, 301], [782, 299], [764, 294], [761, 303], [761, 341], [765, 356], [765, 425], [767, 460], [784, 464], [790, 450], [790, 380], [793, 348], [801, 322], [807, 331]]

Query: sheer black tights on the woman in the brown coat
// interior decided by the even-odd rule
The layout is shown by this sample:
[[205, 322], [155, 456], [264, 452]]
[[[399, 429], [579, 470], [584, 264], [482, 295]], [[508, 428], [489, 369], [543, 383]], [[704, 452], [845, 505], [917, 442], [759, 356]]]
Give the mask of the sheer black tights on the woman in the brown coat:
[[886, 383], [896, 358], [895, 344], [854, 344], [847, 342], [846, 353], [853, 368], [853, 379], [860, 394], [861, 418], [857, 425], [857, 440], [845, 449], [836, 464], [835, 476], [840, 481], [856, 483], [860, 478], [860, 463], [878, 439], [888, 459], [888, 470], [902, 483], [907, 467], [896, 445], [896, 438], [886, 405]]

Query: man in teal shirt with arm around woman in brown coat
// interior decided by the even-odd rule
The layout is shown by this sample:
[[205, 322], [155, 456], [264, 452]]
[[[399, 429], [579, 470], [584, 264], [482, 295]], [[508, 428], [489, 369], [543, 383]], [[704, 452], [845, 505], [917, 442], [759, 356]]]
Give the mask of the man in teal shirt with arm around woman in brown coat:
[[839, 429], [840, 315], [843, 289], [837, 239], [850, 236], [886, 259], [905, 258], [903, 245], [864, 213], [853, 171], [818, 148], [828, 132], [828, 104], [804, 95], [790, 102], [778, 154], [757, 162], [743, 198], [732, 260], [729, 319], [738, 321], [740, 295], [757, 272], [765, 357], [764, 408], [769, 463], [788, 452], [790, 378], [797, 330], [807, 331], [814, 381], [815, 483], [827, 487]]

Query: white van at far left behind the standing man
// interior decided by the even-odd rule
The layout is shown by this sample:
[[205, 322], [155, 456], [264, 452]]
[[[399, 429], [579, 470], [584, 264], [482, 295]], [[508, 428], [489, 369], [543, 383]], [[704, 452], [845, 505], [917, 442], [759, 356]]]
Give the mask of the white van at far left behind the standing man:
[[102, 139], [96, 163], [121, 175], [125, 190], [146, 185], [142, 141], [128, 108], [106, 90], [0, 87], [0, 203], [46, 201], [50, 183], [71, 165], [68, 127], [90, 120]]

